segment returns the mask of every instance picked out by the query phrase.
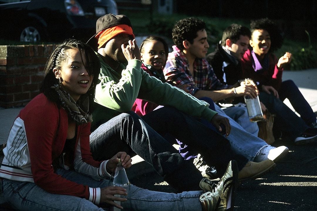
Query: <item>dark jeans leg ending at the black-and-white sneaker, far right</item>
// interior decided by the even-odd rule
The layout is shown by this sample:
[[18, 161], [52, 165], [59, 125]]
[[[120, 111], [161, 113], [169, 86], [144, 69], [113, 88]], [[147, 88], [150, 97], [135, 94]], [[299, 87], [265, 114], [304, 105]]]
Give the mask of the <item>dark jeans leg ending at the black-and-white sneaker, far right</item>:
[[301, 117], [297, 116], [281, 99], [277, 99], [272, 93], [268, 94], [261, 91], [259, 98], [268, 111], [276, 115], [274, 130], [287, 133], [290, 139], [295, 139], [308, 128]]

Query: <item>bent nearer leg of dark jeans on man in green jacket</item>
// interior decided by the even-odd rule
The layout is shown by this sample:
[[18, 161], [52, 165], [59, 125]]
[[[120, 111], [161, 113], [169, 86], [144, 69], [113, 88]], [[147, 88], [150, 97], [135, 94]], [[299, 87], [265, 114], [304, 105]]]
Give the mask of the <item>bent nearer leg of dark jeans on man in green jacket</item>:
[[131, 156], [136, 153], [179, 192], [200, 189], [200, 171], [132, 111], [115, 116], [94, 130], [90, 134], [90, 150], [95, 160], [108, 160], [117, 152]]

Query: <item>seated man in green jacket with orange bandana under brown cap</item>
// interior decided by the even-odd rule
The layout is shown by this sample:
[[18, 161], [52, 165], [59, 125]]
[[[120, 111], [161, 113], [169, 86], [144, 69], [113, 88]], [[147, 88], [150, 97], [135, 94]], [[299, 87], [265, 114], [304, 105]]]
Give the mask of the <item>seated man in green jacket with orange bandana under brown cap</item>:
[[[133, 39], [130, 20], [126, 16], [107, 14], [100, 17], [96, 23], [96, 32], [87, 42], [98, 52], [101, 63], [101, 82], [96, 85], [94, 121], [90, 135], [90, 147], [96, 160], [111, 158], [113, 155], [109, 152], [115, 154], [125, 151], [130, 155], [137, 153], [178, 191], [196, 189], [202, 178], [200, 171], [190, 160], [184, 160], [171, 143], [162, 138], [168, 134], [204, 155], [206, 163], [215, 166], [219, 176], [225, 173], [226, 166], [232, 159], [237, 161], [239, 170], [246, 168], [244, 172], [248, 173], [244, 175], [244, 179], [259, 176], [259, 169], [244, 167], [248, 160], [233, 152], [225, 137], [191, 116], [204, 117], [219, 128], [219, 131], [219, 125], [223, 124], [226, 135], [229, 135], [230, 124], [227, 118], [209, 109], [208, 103], [167, 83], [163, 84], [141, 69], [140, 51]], [[164, 107], [141, 119], [131, 111], [136, 98]], [[133, 126], [142, 124], [140, 131], [131, 127], [122, 131], [119, 126], [119, 132], [110, 131], [109, 124], [118, 124], [120, 121], [122, 126], [129, 121], [120, 118], [121, 113], [130, 115]], [[128, 135], [124, 136], [126, 134]], [[132, 138], [129, 137], [130, 134]], [[107, 154], [103, 150], [105, 148]], [[272, 167], [273, 165], [275, 164], [272, 162]]]

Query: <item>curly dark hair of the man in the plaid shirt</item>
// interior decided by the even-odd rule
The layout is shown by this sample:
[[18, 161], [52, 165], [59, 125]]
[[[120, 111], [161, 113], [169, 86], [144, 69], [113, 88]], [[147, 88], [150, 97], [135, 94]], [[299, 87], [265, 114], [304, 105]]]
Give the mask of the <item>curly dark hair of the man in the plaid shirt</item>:
[[191, 44], [197, 37], [197, 32], [206, 28], [206, 23], [197, 18], [184, 18], [176, 22], [172, 30], [172, 39], [174, 44], [183, 50], [183, 41], [187, 40]]

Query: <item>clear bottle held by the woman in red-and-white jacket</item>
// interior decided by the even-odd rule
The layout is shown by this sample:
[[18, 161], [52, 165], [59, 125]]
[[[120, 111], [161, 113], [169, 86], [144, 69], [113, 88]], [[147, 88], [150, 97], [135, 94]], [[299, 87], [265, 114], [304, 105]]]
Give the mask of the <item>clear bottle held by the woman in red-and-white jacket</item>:
[[[109, 180], [109, 186], [119, 186], [119, 187], [123, 187], [124, 189], [126, 189], [126, 193], [127, 193], [127, 199], [129, 202], [130, 200], [130, 182], [128, 177], [126, 176], [126, 170], [123, 168], [122, 166], [122, 162], [119, 158], [119, 162], [117, 163], [117, 167], [116, 169], [113, 171], [111, 178]], [[120, 195], [114, 195], [116, 197], [120, 197]], [[119, 201], [114, 201], [115, 203], [121, 205], [121, 202]], [[121, 209], [116, 208], [116, 207], [111, 207], [110, 208], [111, 211], [119, 211]]]

